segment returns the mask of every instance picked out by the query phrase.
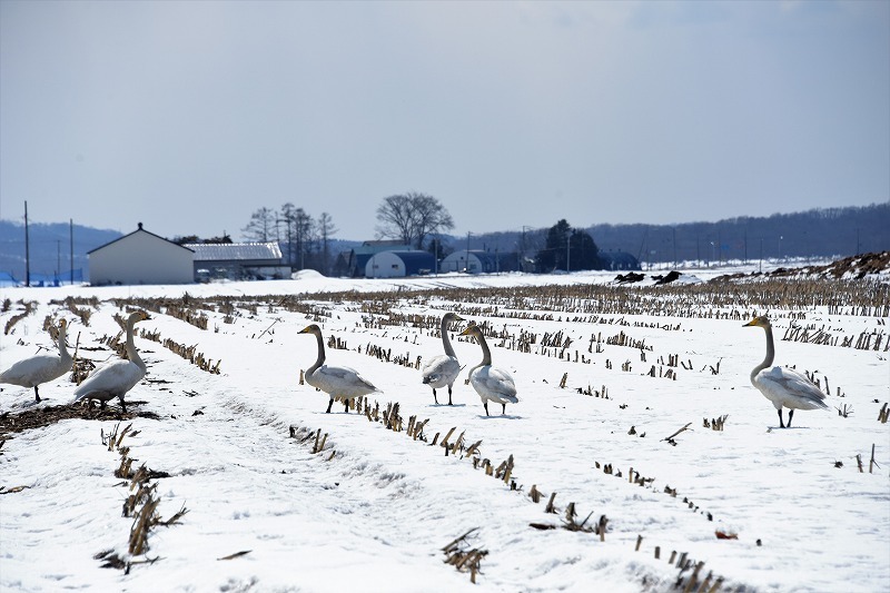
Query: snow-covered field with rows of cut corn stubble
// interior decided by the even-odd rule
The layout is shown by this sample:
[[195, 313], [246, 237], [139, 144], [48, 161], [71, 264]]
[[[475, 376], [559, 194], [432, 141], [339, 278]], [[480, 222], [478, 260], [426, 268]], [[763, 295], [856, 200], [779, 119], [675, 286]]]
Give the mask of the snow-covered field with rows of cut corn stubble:
[[[107, 419], [3, 435], [0, 590], [889, 591], [890, 423], [878, 419], [890, 402], [887, 276], [684, 281], [733, 271], [744, 270], [684, 269], [665, 286], [616, 286], [607, 273], [301, 274], [4, 289], [4, 327], [21, 302], [36, 310], [0, 336], [0, 369], [53, 349], [47, 316], [67, 318], [70, 346], [97, 364], [116, 356], [105, 345], [120, 332], [115, 314], [146, 307], [151, 318], [136, 338], [148, 375], [127, 396], [138, 416], [118, 424], [112, 402]], [[853, 306], [858, 289], [883, 308]], [[207, 328], [175, 309], [205, 315]], [[466, 365], [455, 405], [435, 405], [421, 383], [416, 364], [442, 352], [447, 310], [491, 329], [494, 365], [518, 389], [505, 415], [490, 405], [486, 417], [464, 383], [481, 359], [457, 336], [465, 323], [452, 334]], [[829, 411], [800, 411], [788, 429], [749, 382], [765, 338], [742, 325], [763, 313], [777, 364], [814, 374], [831, 393]], [[327, 396], [299, 384], [316, 357], [315, 339], [298, 334], [310, 323], [340, 342], [328, 364], [382, 389], [367, 414], [339, 404], [325, 414]], [[864, 335], [868, 349], [857, 347]], [[165, 340], [195, 346], [219, 374]], [[32, 389], [2, 387], [4, 431], [14, 415], [68, 404], [75, 389], [67, 375], [34, 404]], [[395, 403], [402, 422], [387, 427]], [[704, 425], [723, 416], [723, 429]], [[107, 445], [130, 424], [138, 434]], [[127, 456], [132, 470], [169, 475], [142, 483], [154, 495], [123, 516], [139, 487], [115, 476]], [[187, 512], [155, 525], [148, 550], [131, 555], [146, 501], [157, 501], [156, 520]], [[453, 548], [485, 552], [463, 566], [477, 561], [475, 584], [443, 552], [472, 530]]]

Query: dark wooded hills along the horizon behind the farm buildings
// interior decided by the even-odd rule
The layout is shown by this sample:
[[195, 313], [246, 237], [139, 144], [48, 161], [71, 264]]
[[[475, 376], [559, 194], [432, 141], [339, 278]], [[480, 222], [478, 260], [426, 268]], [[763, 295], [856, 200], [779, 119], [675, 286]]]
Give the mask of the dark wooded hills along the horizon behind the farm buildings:
[[[523, 231], [471, 233], [462, 237], [443, 235], [438, 238], [448, 253], [469, 248], [501, 254], [517, 253], [534, 258], [544, 247], [547, 229], [556, 221], [540, 220], [540, 227], [525, 227]], [[571, 218], [567, 223], [573, 225]], [[847, 257], [890, 250], [890, 201], [768, 217], [730, 218], [716, 223], [573, 228], [587, 231], [600, 251], [624, 251], [640, 259], [644, 266], [685, 260]], [[81, 225], [29, 224], [32, 280], [59, 276], [63, 281], [70, 277], [77, 281], [87, 277], [87, 251], [120, 236], [116, 230]], [[360, 243], [334, 239], [332, 253], [349, 249]], [[24, 260], [24, 226], [0, 220], [0, 274], [23, 279]]]

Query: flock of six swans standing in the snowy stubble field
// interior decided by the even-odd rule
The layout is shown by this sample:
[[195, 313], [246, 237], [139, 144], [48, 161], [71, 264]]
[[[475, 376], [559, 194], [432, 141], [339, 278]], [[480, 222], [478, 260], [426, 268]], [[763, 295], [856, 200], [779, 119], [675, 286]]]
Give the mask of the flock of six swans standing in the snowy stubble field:
[[[134, 344], [134, 326], [148, 319], [144, 312], [131, 313], [127, 318], [126, 359], [113, 360], [97, 368], [75, 389], [75, 402], [99, 401], [105, 407], [106, 403], [117, 397], [121, 411], [126, 412], [123, 396], [146, 374], [146, 364], [139, 357], [139, 352]], [[432, 357], [421, 369], [422, 382], [433, 388], [433, 399], [438, 404], [436, 389], [448, 388], [448, 405], [452, 405], [452, 387], [457, 380], [462, 366], [457, 360], [454, 348], [448, 339], [451, 324], [464, 319], [455, 313], [446, 313], [442, 317], [442, 345], [445, 354]], [[66, 344], [68, 323], [59, 322], [58, 356], [36, 355], [19, 360], [8, 369], [0, 373], [0, 383], [19, 385], [33, 388], [34, 398], [40, 402], [38, 386], [57, 379], [71, 370], [73, 359]], [[827, 409], [824, 394], [813, 385], [807, 376], [788, 367], [773, 366], [775, 345], [773, 343], [772, 326], [769, 318], [760, 316], [753, 318], [744, 327], [762, 327], [767, 334], [767, 356], [761, 364], [751, 372], [751, 384], [763, 396], [772, 402], [779, 412], [779, 425], [782, 428], [791, 426], [791, 418], [795, 409]], [[300, 334], [312, 334], [316, 338], [318, 355], [315, 363], [305, 370], [304, 378], [310, 386], [326, 393], [329, 397], [326, 413], [335, 399], [344, 402], [346, 412], [349, 412], [349, 401], [356, 397], [379, 392], [368, 379], [356, 369], [347, 366], [330, 366], [325, 364], [325, 343], [322, 328], [315, 324], [306, 326]], [[468, 323], [461, 332], [461, 336], [471, 336], [482, 348], [482, 360], [467, 373], [469, 384], [478, 394], [485, 415], [488, 415], [488, 402], [501, 404], [501, 414], [506, 414], [507, 404], [518, 403], [516, 385], [508, 370], [492, 366], [492, 352], [485, 342], [485, 335], [479, 326]], [[785, 425], [782, 409], [788, 408], [788, 424]]]

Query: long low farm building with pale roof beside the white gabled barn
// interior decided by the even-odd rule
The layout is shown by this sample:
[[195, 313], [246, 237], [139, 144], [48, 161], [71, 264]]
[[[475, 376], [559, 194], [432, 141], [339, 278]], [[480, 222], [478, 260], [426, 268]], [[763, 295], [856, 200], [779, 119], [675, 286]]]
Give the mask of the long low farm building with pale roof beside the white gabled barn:
[[195, 251], [194, 278], [265, 279], [289, 278], [290, 268], [281, 265], [281, 248], [277, 243], [189, 243]]

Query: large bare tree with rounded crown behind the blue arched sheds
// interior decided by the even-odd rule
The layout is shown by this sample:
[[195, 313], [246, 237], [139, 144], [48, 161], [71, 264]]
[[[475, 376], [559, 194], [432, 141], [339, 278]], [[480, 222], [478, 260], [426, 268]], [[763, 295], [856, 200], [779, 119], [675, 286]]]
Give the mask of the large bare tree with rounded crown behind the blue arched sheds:
[[377, 235], [423, 249], [427, 235], [454, 228], [448, 210], [433, 196], [409, 191], [383, 199], [377, 208]]

